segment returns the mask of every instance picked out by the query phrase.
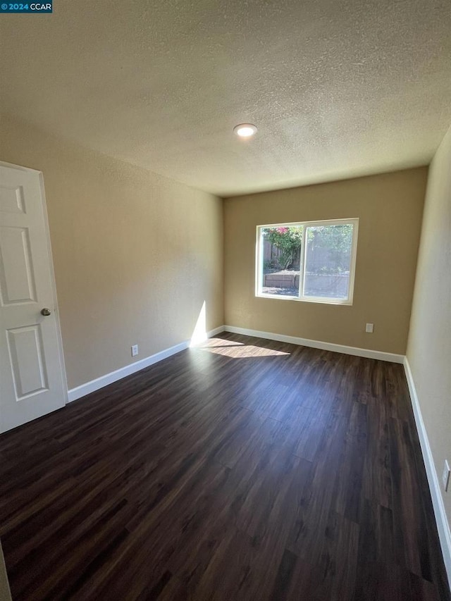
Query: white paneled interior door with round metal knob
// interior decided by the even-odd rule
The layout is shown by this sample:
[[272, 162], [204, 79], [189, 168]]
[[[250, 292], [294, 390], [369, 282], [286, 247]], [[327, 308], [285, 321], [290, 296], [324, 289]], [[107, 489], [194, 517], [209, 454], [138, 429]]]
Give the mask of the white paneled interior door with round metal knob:
[[56, 309], [42, 174], [0, 165], [0, 432], [66, 404]]

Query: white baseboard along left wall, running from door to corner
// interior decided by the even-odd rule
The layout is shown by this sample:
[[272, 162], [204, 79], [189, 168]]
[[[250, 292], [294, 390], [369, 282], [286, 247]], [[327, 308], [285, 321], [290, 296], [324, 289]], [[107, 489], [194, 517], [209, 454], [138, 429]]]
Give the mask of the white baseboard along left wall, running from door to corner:
[[[224, 326], [219, 326], [214, 330], [210, 330], [206, 332], [204, 340], [207, 338], [219, 334], [224, 331]], [[197, 340], [197, 342], [201, 342], [201, 340]], [[184, 342], [180, 342], [179, 345], [175, 345], [168, 349], [164, 349], [158, 353], [150, 355], [150, 357], [146, 357], [145, 359], [141, 359], [140, 361], [135, 361], [135, 363], [131, 363], [130, 365], [126, 365], [125, 367], [121, 367], [120, 369], [116, 369], [116, 371], [111, 371], [111, 373], [106, 373], [105, 376], [100, 376], [100, 378], [96, 378], [95, 380], [91, 380], [90, 382], [86, 382], [76, 388], [72, 388], [68, 390], [68, 402], [76, 401], [81, 397], [85, 397], [89, 395], [91, 392], [95, 392], [100, 388], [104, 388], [113, 382], [117, 382], [118, 380], [122, 380], [126, 376], [130, 376], [132, 373], [136, 373], [145, 367], [149, 367], [154, 363], [158, 363], [158, 361], [162, 361], [163, 359], [167, 359], [172, 355], [179, 353], [190, 347], [192, 345], [191, 340], [185, 340]]]

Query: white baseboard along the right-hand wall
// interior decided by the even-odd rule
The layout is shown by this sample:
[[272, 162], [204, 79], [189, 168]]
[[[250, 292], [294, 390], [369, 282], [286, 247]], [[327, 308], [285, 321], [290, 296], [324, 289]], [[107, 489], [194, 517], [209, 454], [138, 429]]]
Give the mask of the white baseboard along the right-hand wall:
[[428, 433], [424, 425], [423, 416], [419, 398], [416, 394], [416, 388], [412, 371], [410, 371], [409, 361], [404, 358], [404, 371], [406, 373], [407, 384], [409, 385], [410, 399], [412, 400], [412, 409], [414, 410], [414, 418], [416, 430], [420, 439], [421, 452], [423, 453], [424, 465], [426, 466], [426, 476], [428, 476], [429, 490], [431, 490], [432, 504], [437, 523], [438, 537], [440, 538], [440, 546], [442, 547], [443, 562], [448, 577], [448, 583], [451, 588], [451, 531], [450, 524], [447, 521], [445, 505], [440, 488], [440, 481], [435, 470], [434, 460], [432, 457], [431, 446], [429, 445]]

